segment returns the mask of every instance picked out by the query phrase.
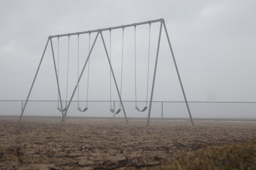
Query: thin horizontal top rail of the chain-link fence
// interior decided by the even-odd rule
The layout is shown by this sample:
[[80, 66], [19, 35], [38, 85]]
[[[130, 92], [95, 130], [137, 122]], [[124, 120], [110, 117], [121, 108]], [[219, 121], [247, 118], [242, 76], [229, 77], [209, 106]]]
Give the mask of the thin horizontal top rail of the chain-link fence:
[[[25, 102], [26, 100], [0, 100], [0, 102]], [[57, 100], [28, 100], [28, 102], [58, 102]], [[62, 100], [66, 102], [66, 100]], [[78, 102], [73, 100], [72, 102]], [[80, 101], [80, 102], [86, 102]], [[88, 100], [88, 102], [110, 102], [109, 100]], [[112, 100], [112, 102], [120, 102], [119, 100]], [[135, 102], [132, 100], [123, 100], [123, 102]], [[137, 102], [146, 102], [146, 101], [137, 101]], [[149, 102], [149, 101], [148, 101]], [[152, 101], [152, 102], [162, 102], [162, 103], [185, 103], [185, 101]], [[190, 101], [188, 103], [256, 103], [256, 102], [202, 102], [202, 101]]]

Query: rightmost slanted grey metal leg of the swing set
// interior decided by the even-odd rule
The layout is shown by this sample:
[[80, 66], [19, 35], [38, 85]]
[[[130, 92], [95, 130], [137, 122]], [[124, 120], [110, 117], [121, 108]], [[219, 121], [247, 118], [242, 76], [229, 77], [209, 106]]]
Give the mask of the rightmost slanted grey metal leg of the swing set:
[[164, 24], [164, 29], [165, 29], [166, 37], [167, 37], [167, 40], [168, 40], [168, 43], [169, 43], [169, 46], [170, 46], [170, 50], [171, 50], [171, 53], [172, 53], [173, 62], [174, 62], [174, 65], [175, 65], [175, 68], [176, 68], [176, 71], [177, 71], [178, 78], [179, 78], [179, 83], [181, 84], [182, 93], [183, 93], [183, 96], [184, 96], [184, 99], [185, 99], [185, 102], [186, 102], [186, 105], [187, 105], [188, 114], [189, 114], [192, 126], [194, 126], [193, 119], [192, 119], [192, 116], [191, 116], [191, 113], [190, 113], [190, 110], [189, 110], [189, 107], [188, 107], [188, 102], [187, 102], [186, 94], [185, 94], [185, 91], [184, 91], [183, 86], [182, 86], [181, 76], [179, 75], [178, 67], [177, 67], [177, 64], [176, 64], [176, 60], [175, 60], [175, 57], [174, 57], [174, 54], [173, 54], [171, 42], [170, 42], [170, 39], [169, 39], [168, 32], [167, 32], [167, 29], [166, 29], [164, 21], [163, 21], [163, 24]]

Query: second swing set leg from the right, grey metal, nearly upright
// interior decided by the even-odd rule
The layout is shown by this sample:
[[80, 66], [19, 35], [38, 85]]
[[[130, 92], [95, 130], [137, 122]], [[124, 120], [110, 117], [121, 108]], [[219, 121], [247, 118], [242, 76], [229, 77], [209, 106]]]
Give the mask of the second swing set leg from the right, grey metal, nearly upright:
[[157, 61], [158, 61], [159, 46], [160, 46], [160, 39], [161, 39], [161, 33], [162, 33], [162, 25], [163, 25], [163, 22], [161, 21], [159, 37], [158, 37], [158, 46], [157, 46], [156, 57], [155, 57], [155, 70], [154, 70], [154, 77], [153, 77], [152, 90], [151, 90], [151, 96], [150, 96], [149, 115], [148, 115], [147, 126], [149, 126], [149, 120], [150, 120], [150, 112], [151, 112], [154, 85], [155, 85], [155, 74], [156, 74], [156, 66], [157, 66]]

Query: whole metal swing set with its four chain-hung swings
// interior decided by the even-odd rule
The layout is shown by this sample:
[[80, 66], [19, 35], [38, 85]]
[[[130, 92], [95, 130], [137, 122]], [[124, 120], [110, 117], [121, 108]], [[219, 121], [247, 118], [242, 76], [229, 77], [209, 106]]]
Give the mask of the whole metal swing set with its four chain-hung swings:
[[[157, 47], [157, 52], [156, 52], [156, 59], [155, 59], [155, 67], [154, 67], [154, 75], [153, 75], [153, 82], [152, 82], [152, 90], [151, 90], [151, 97], [150, 97], [150, 103], [149, 103], [149, 108], [148, 108], [148, 85], [149, 85], [149, 58], [150, 58], [150, 31], [151, 31], [151, 23], [156, 23], [156, 22], [160, 22], [160, 31], [159, 31], [159, 38], [158, 38], [158, 47]], [[146, 95], [146, 105], [144, 106], [143, 109], [140, 109], [138, 106], [137, 106], [137, 76], [136, 76], [136, 26], [138, 25], [144, 25], [144, 24], [149, 24], [149, 43], [148, 43], [148, 75], [147, 75], [147, 95]], [[157, 62], [158, 62], [158, 54], [159, 54], [159, 46], [160, 46], [160, 39], [161, 39], [161, 34], [162, 34], [162, 26], [164, 26], [164, 29], [165, 29], [165, 33], [166, 33], [166, 37], [167, 37], [167, 40], [168, 40], [168, 43], [169, 43], [169, 47], [170, 47], [170, 50], [171, 50], [171, 53], [172, 53], [172, 57], [173, 57], [173, 61], [174, 61], [174, 65], [175, 65], [175, 68], [176, 68], [176, 71], [177, 71], [177, 75], [178, 75], [178, 78], [179, 78], [179, 82], [180, 82], [180, 85], [181, 85], [181, 88], [182, 88], [182, 92], [183, 92], [183, 96], [184, 96], [184, 99], [185, 99], [185, 102], [186, 102], [186, 106], [187, 106], [187, 110], [188, 110], [188, 114], [189, 114], [189, 117], [190, 117], [190, 120], [191, 120], [191, 123], [192, 123], [192, 126], [194, 126], [194, 123], [193, 123], [193, 119], [192, 119], [192, 116], [191, 116], [191, 113], [190, 113], [190, 109], [189, 109], [189, 106], [188, 106], [188, 102], [187, 102], [187, 99], [186, 99], [186, 95], [185, 95], [185, 91], [184, 91], [184, 88], [183, 88], [183, 85], [182, 85], [182, 81], [181, 81], [181, 77], [179, 75], [179, 72], [178, 72], [178, 68], [177, 68], [177, 64], [176, 64], [176, 61], [175, 61], [175, 58], [174, 58], [174, 54], [173, 54], [173, 50], [172, 50], [172, 47], [171, 47], [171, 42], [170, 42], [170, 39], [169, 39], [169, 36], [168, 36], [168, 33], [167, 33], [167, 29], [166, 29], [166, 25], [165, 25], [165, 21], [163, 18], [161, 19], [156, 19], [156, 20], [152, 20], [152, 21], [146, 21], [146, 22], [141, 22], [141, 23], [134, 23], [134, 24], [129, 24], [129, 25], [122, 25], [122, 26], [117, 26], [117, 27], [110, 27], [110, 28], [104, 28], [104, 29], [97, 29], [97, 30], [91, 30], [91, 31], [83, 31], [83, 32], [76, 32], [76, 33], [71, 33], [71, 34], [62, 34], [62, 35], [55, 35], [55, 36], [49, 36], [48, 37], [48, 40], [47, 40], [47, 43], [46, 43], [46, 46], [45, 46], [45, 49], [44, 49], [44, 52], [43, 52], [43, 55], [42, 55], [42, 58], [39, 62], [39, 66], [37, 68], [37, 71], [36, 71], [36, 75], [34, 77], [34, 80], [33, 80], [33, 83], [31, 85], [31, 88], [30, 88], [30, 91], [28, 93], [28, 96], [27, 96], [27, 99], [26, 99], [26, 102], [24, 104], [24, 107], [22, 109], [22, 113], [21, 113], [21, 116], [20, 116], [20, 119], [19, 119], [19, 122], [21, 121], [21, 118], [23, 116], [23, 113], [24, 113], [24, 110], [25, 110], [25, 107], [26, 107], [26, 104], [27, 104], [27, 101], [28, 101], [28, 98], [30, 96], [30, 93], [31, 93], [31, 90], [33, 88], [33, 85], [34, 85], [34, 82], [35, 82], [35, 79], [37, 77], [37, 74], [38, 74], [38, 71], [39, 71], [39, 68], [40, 68], [40, 65], [42, 63], [42, 60], [43, 60], [43, 57], [44, 57], [44, 54], [45, 54], [45, 51], [46, 51], [46, 48], [47, 48], [47, 45], [48, 45], [48, 42], [50, 41], [51, 43], [51, 51], [52, 51], [52, 54], [53, 54], [53, 62], [54, 62], [54, 68], [55, 68], [55, 74], [56, 74], [56, 80], [57, 80], [57, 87], [58, 87], [58, 106], [57, 106], [57, 109], [62, 113], [62, 120], [61, 120], [61, 123], [63, 123], [63, 121], [65, 121], [65, 117], [67, 115], [67, 111], [69, 109], [69, 106], [70, 106], [70, 103], [73, 99], [73, 96], [75, 94], [75, 91], [77, 90], [78, 91], [78, 110], [80, 112], [85, 112], [86, 110], [88, 110], [88, 89], [89, 89], [89, 65], [90, 65], [90, 55], [92, 53], [92, 50], [93, 50], [93, 47], [95, 45], [95, 42], [98, 38], [98, 35], [101, 35], [101, 39], [102, 39], [102, 42], [103, 42], [103, 45], [104, 45], [104, 49], [105, 49], [105, 52], [106, 52], [106, 56], [107, 56], [107, 59], [108, 59], [108, 63], [109, 63], [109, 67], [110, 67], [110, 113], [112, 114], [119, 114], [121, 109], [123, 109], [123, 112], [124, 112], [124, 116], [125, 116], [125, 119], [126, 119], [126, 122], [128, 123], [128, 120], [127, 120], [127, 116], [126, 116], [126, 113], [125, 113], [125, 109], [124, 109], [124, 105], [123, 105], [123, 102], [122, 102], [122, 99], [121, 99], [121, 92], [122, 92], [122, 79], [123, 79], [123, 52], [124, 52], [124, 29], [126, 27], [134, 27], [134, 56], [135, 56], [135, 109], [138, 111], [138, 112], [145, 112], [147, 109], [148, 109], [148, 122], [147, 122], [147, 126], [149, 126], [149, 121], [150, 121], [150, 113], [151, 113], [151, 107], [152, 107], [152, 99], [153, 99], [153, 91], [154, 91], [154, 83], [155, 83], [155, 75], [156, 75], [156, 67], [157, 67]], [[117, 86], [117, 82], [116, 82], [116, 79], [115, 79], [115, 75], [114, 75], [114, 71], [113, 71], [113, 68], [112, 68], [112, 65], [111, 65], [111, 31], [113, 29], [120, 29], [122, 28], [123, 29], [123, 34], [122, 34], [122, 53], [121, 53], [121, 80], [120, 80], [120, 91], [119, 91], [119, 88]], [[106, 48], [106, 44], [105, 44], [105, 41], [104, 41], [104, 38], [103, 38], [103, 35], [102, 35], [102, 31], [106, 31], [106, 30], [109, 30], [109, 55], [108, 55], [108, 52], [107, 52], [107, 48]], [[91, 33], [92, 32], [97, 32], [97, 35], [94, 39], [94, 42], [92, 44], [92, 47], [90, 47], [90, 38], [91, 38]], [[84, 63], [84, 66], [82, 68], [82, 71], [81, 73], [79, 74], [79, 35], [81, 34], [89, 34], [89, 54], [88, 54], [88, 57]], [[67, 100], [67, 94], [68, 94], [68, 71], [69, 71], [69, 40], [70, 40], [70, 36], [72, 35], [77, 35], [78, 36], [78, 71], [77, 71], [77, 75], [78, 75], [78, 80], [77, 80], [77, 84], [73, 90], [73, 93], [71, 95], [71, 98], [68, 102]], [[67, 54], [67, 86], [66, 86], [66, 106], [65, 108], [63, 108], [62, 106], [62, 101], [61, 101], [61, 93], [60, 93], [60, 88], [59, 88], [59, 38], [60, 37], [66, 37], [68, 36], [68, 54]], [[55, 63], [55, 57], [54, 57], [54, 50], [53, 50], [53, 43], [52, 43], [52, 38], [58, 38], [58, 65], [57, 65], [57, 68], [56, 68], [56, 63]], [[87, 75], [87, 93], [86, 93], [86, 107], [84, 109], [81, 109], [80, 106], [79, 106], [79, 82], [80, 82], [80, 79], [83, 75], [83, 72], [84, 72], [84, 69], [86, 67], [86, 65], [88, 64], [88, 75]], [[120, 101], [120, 104], [119, 104], [119, 108], [118, 110], [115, 112], [115, 110], [112, 108], [112, 87], [111, 87], [111, 80], [112, 80], [112, 77], [114, 79], [114, 82], [115, 82], [115, 86], [116, 86], [116, 90], [117, 90], [117, 93], [118, 93], [118, 96], [119, 96], [119, 101]], [[60, 103], [60, 105], [59, 105]]]

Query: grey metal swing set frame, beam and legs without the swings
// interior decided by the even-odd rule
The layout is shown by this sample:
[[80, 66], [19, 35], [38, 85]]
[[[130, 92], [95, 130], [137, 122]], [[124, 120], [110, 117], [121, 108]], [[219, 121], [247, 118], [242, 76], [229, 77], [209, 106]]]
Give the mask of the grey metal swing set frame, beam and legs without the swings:
[[[186, 95], [185, 95], [185, 91], [184, 91], [184, 88], [183, 88], [183, 85], [182, 85], [182, 81], [181, 81], [181, 77], [179, 75], [179, 71], [178, 71], [178, 67], [177, 67], [177, 64], [176, 64], [176, 60], [175, 60], [175, 57], [174, 57], [174, 53], [173, 53], [173, 50], [172, 50], [172, 46], [171, 46], [171, 42], [170, 42], [170, 38], [168, 36], [168, 32], [167, 32], [167, 29], [166, 29], [166, 25], [165, 25], [165, 21], [163, 18], [160, 18], [160, 19], [155, 19], [155, 20], [151, 20], [151, 21], [146, 21], [146, 22], [140, 22], [140, 23], [134, 23], [134, 24], [128, 24], [128, 25], [121, 25], [121, 26], [116, 26], [116, 27], [109, 27], [109, 28], [104, 28], [104, 29], [96, 29], [96, 30], [90, 30], [90, 31], [83, 31], [83, 32], [75, 32], [75, 33], [70, 33], [70, 34], [61, 34], [61, 35], [54, 35], [54, 36], [49, 36], [48, 37], [48, 40], [46, 42], [46, 45], [45, 45], [45, 49], [44, 49], [44, 52], [43, 52], [43, 55], [41, 57], [41, 60], [39, 62], [39, 65], [38, 65], [38, 68], [37, 68], [37, 71], [36, 71], [36, 74], [35, 74], [35, 77], [34, 77], [34, 80], [32, 82], [32, 85], [31, 85], [31, 88], [30, 88], [30, 91], [28, 93], [28, 96], [27, 96], [27, 99], [26, 99], [26, 102], [24, 104], [24, 107], [22, 109], [22, 113], [21, 113], [21, 116], [19, 118], [19, 122], [21, 121], [21, 118], [23, 116], [23, 113], [24, 113], [24, 110], [25, 110], [25, 107], [26, 107], [26, 104], [27, 104], [27, 101], [28, 101], [28, 98], [30, 96], [30, 93], [32, 91], [32, 88], [34, 86], [34, 82], [35, 82], [35, 79], [37, 77], [37, 74], [38, 74], [38, 71], [39, 71], [39, 68], [40, 68], [40, 65], [42, 63], [42, 60], [44, 58], [44, 54], [45, 54], [45, 51], [47, 49], [47, 45], [50, 41], [51, 43], [51, 51], [52, 51], [52, 54], [53, 54], [53, 62], [54, 62], [54, 68], [55, 68], [55, 74], [56, 74], [56, 80], [57, 80], [57, 86], [58, 86], [58, 93], [59, 93], [59, 98], [60, 98], [60, 110], [62, 112], [62, 120], [61, 120], [61, 123], [63, 123], [65, 121], [65, 117], [67, 115], [67, 111], [69, 109], [69, 106], [71, 104], [71, 101], [73, 99], [73, 96], [75, 94], [75, 91], [77, 90], [78, 88], [78, 85], [79, 85], [79, 82], [80, 82], [80, 79], [83, 75], [83, 72], [84, 72], [84, 69], [85, 69], [85, 66], [86, 64], [88, 63], [88, 60], [89, 60], [89, 57], [92, 53], [92, 50], [93, 50], [93, 47], [95, 45], [95, 42], [98, 38], [98, 35], [100, 34], [101, 35], [101, 38], [102, 38], [102, 42], [103, 42], [103, 45], [104, 45], [104, 48], [105, 48], [105, 52], [106, 52], [106, 56], [107, 56], [107, 59], [108, 59], [108, 63], [109, 63], [109, 66], [110, 66], [110, 70], [111, 70], [111, 73], [112, 73], [112, 76], [113, 76], [113, 79], [114, 79], [114, 82], [115, 82], [115, 86], [116, 86], [116, 90], [117, 90], [117, 93], [118, 93], [118, 96], [119, 96], [119, 100], [120, 100], [120, 104], [122, 106], [122, 109], [123, 109], [123, 112], [124, 112], [124, 116], [125, 116], [125, 119], [126, 119], [126, 122], [128, 124], [128, 120], [127, 120], [127, 116], [126, 116], [126, 113], [125, 113], [125, 109], [124, 109], [124, 105], [123, 105], [123, 102], [122, 102], [122, 99], [121, 99], [121, 95], [120, 95], [120, 92], [119, 92], [119, 89], [118, 89], [118, 86], [117, 86], [117, 82], [116, 82], [116, 79], [115, 79], [115, 75], [114, 75], [114, 71], [113, 71], [113, 68], [112, 68], [112, 65], [111, 65], [111, 62], [110, 62], [110, 59], [109, 59], [109, 55], [108, 55], [108, 52], [107, 52], [107, 48], [106, 48], [106, 44], [105, 44], [105, 41], [104, 41], [104, 38], [103, 38], [103, 35], [102, 35], [102, 31], [106, 31], [106, 30], [113, 30], [113, 29], [120, 29], [120, 28], [126, 28], [126, 27], [136, 27], [138, 25], [144, 25], [144, 24], [151, 24], [151, 23], [156, 23], [156, 22], [160, 22], [160, 31], [159, 31], [159, 38], [158, 38], [158, 47], [157, 47], [157, 52], [156, 52], [156, 58], [155, 58], [155, 67], [154, 67], [154, 75], [153, 75], [153, 82], [152, 82], [152, 89], [151, 89], [151, 96], [150, 96], [150, 104], [149, 104], [149, 112], [148, 112], [148, 121], [147, 121], [147, 126], [149, 126], [149, 121], [150, 121], [150, 113], [151, 113], [151, 107], [152, 107], [152, 99], [153, 99], [153, 91], [154, 91], [154, 84], [155, 84], [155, 75], [156, 75], [156, 67], [157, 67], [157, 63], [158, 63], [158, 54], [159, 54], [159, 47], [160, 47], [160, 39], [161, 39], [161, 34], [162, 34], [162, 26], [164, 26], [164, 30], [165, 30], [165, 34], [166, 34], [166, 37], [167, 37], [167, 41], [168, 41], [168, 44], [169, 44], [169, 47], [170, 47], [170, 50], [171, 50], [171, 53], [172, 53], [172, 58], [173, 58], [173, 62], [174, 62], [174, 65], [175, 65], [175, 68], [176, 68], [176, 71], [177, 71], [177, 76], [178, 76], [178, 79], [179, 79], [179, 83], [181, 85], [181, 89], [182, 89], [182, 93], [183, 93], [183, 96], [184, 96], [184, 99], [185, 99], [185, 103], [186, 103], [186, 106], [187, 106], [187, 110], [188, 110], [188, 114], [189, 114], [189, 117], [190, 117], [190, 120], [191, 120], [191, 123], [192, 123], [192, 126], [194, 126], [194, 123], [193, 123], [193, 119], [192, 119], [192, 116], [191, 116], [191, 113], [190, 113], [190, 109], [189, 109], [189, 106], [188, 106], [188, 102], [187, 102], [187, 98], [186, 98]], [[58, 74], [57, 74], [57, 69], [56, 69], [56, 62], [55, 62], [55, 57], [54, 57], [54, 50], [53, 50], [53, 42], [52, 42], [52, 38], [56, 38], [56, 37], [65, 37], [65, 36], [72, 36], [72, 35], [80, 35], [80, 34], [91, 34], [92, 32], [97, 32], [97, 35], [94, 39], [94, 42], [92, 44], [92, 47], [90, 49], [90, 52], [88, 54], [88, 57], [84, 63], [84, 66], [83, 66], [83, 69], [80, 73], [80, 76], [78, 78], [78, 81], [77, 81], [77, 84], [73, 90], [73, 93], [71, 95], [71, 98], [68, 102], [68, 105], [66, 107], [66, 110], [63, 109], [63, 106], [62, 106], [62, 102], [61, 102], [61, 95], [60, 95], [60, 88], [59, 88], [59, 81], [58, 81]]]

